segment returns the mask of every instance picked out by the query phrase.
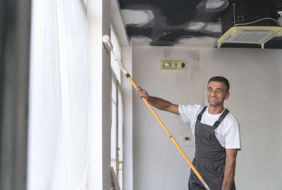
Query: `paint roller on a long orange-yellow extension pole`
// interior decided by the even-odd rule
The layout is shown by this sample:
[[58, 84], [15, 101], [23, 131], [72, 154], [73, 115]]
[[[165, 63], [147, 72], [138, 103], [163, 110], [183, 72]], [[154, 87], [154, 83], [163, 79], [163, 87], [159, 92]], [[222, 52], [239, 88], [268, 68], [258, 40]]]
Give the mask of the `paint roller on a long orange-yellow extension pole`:
[[[135, 90], [137, 90], [137, 85], [135, 84], [135, 82], [132, 80], [131, 76], [129, 75], [128, 71], [126, 70], [125, 66], [122, 64], [122, 62], [119, 60], [118, 57], [116, 57], [116, 54], [113, 52], [113, 44], [110, 40], [110, 36], [108, 35], [103, 35], [102, 37], [102, 41], [104, 44], [105, 49], [108, 52], [112, 52], [116, 62], [118, 63], [120, 69], [122, 70], [122, 72], [125, 74], [125, 76], [128, 78], [128, 80], [131, 82], [131, 84], [133, 85], [133, 87], [135, 88]], [[156, 114], [156, 112], [154, 111], [154, 109], [152, 108], [152, 106], [149, 104], [149, 102], [146, 100], [146, 98], [142, 97], [142, 100], [145, 102], [145, 104], [148, 106], [148, 108], [150, 109], [150, 111], [152, 112], [152, 114], [155, 116], [155, 118], [158, 120], [158, 122], [161, 124], [161, 126], [163, 127], [164, 131], [167, 133], [167, 135], [169, 136], [170, 140], [173, 142], [173, 144], [176, 146], [176, 148], [178, 149], [178, 151], [180, 152], [180, 154], [183, 156], [183, 158], [187, 161], [187, 163], [189, 164], [189, 166], [191, 167], [191, 169], [194, 171], [194, 173], [196, 174], [196, 176], [199, 178], [199, 180], [202, 182], [202, 184], [204, 185], [204, 187], [207, 190], [210, 190], [210, 188], [208, 187], [208, 185], [206, 184], [206, 182], [204, 181], [204, 179], [202, 178], [202, 176], [199, 174], [199, 172], [196, 170], [196, 168], [193, 166], [192, 162], [189, 160], [189, 158], [186, 156], [186, 154], [183, 152], [183, 150], [180, 148], [179, 144], [176, 142], [176, 140], [173, 138], [173, 136], [170, 134], [170, 132], [167, 130], [167, 127], [164, 125], [164, 123], [161, 121], [161, 119], [159, 118], [159, 116]]]

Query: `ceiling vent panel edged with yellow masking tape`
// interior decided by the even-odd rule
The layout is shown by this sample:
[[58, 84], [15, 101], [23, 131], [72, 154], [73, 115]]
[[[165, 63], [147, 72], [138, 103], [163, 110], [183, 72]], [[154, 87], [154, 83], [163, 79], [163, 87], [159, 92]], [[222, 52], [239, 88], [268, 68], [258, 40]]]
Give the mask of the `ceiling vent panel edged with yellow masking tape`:
[[264, 44], [277, 35], [282, 35], [281, 26], [234, 26], [218, 40], [217, 47], [223, 43]]

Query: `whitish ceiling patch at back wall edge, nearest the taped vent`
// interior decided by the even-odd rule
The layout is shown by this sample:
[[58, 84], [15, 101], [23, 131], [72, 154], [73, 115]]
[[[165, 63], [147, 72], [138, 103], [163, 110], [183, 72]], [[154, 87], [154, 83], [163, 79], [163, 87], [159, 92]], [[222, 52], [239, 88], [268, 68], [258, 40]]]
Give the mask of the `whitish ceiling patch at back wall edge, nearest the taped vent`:
[[213, 48], [217, 45], [217, 39], [209, 36], [182, 36], [174, 46]]

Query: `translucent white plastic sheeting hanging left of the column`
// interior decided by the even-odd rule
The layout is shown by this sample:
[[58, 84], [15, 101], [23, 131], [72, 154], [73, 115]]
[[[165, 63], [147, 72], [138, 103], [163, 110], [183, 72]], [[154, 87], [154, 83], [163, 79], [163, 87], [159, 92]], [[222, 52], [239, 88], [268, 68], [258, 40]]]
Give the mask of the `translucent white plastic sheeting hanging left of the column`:
[[27, 189], [86, 189], [86, 2], [32, 1]]

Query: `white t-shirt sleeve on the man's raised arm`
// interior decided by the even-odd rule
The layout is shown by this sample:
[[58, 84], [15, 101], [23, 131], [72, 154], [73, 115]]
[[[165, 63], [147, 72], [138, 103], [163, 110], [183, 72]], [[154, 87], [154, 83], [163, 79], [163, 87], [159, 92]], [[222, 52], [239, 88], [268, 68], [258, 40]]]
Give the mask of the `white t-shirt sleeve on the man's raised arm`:
[[184, 123], [191, 123], [196, 115], [199, 114], [201, 111], [200, 108], [203, 107], [202, 105], [179, 105], [178, 110], [179, 114], [184, 121]]

